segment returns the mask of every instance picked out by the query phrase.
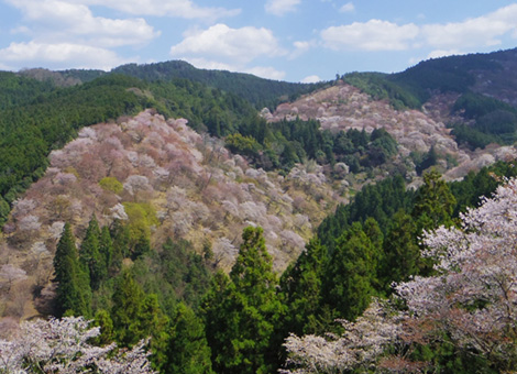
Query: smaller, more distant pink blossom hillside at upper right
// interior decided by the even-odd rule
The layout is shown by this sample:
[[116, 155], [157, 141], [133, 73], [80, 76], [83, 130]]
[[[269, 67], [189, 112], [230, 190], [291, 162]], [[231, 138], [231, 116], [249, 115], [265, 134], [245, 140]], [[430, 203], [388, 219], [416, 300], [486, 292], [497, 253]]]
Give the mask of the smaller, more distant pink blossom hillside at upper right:
[[383, 128], [397, 141], [400, 163], [411, 170], [413, 177], [416, 176], [415, 164], [431, 148], [437, 154], [436, 166], [448, 179], [458, 179], [470, 170], [517, 156], [513, 146], [494, 145], [476, 151], [459, 146], [447, 125], [454, 116], [443, 109], [444, 98], [450, 99], [451, 106], [457, 95], [439, 97], [441, 100], [437, 95], [426, 102], [424, 110], [396, 110], [387, 100], [372, 100], [360, 89], [340, 82], [294, 102], [283, 103], [273, 113], [264, 110], [262, 116], [272, 123], [285, 118], [315, 119], [322, 129], [332, 133], [350, 129], [372, 132]]

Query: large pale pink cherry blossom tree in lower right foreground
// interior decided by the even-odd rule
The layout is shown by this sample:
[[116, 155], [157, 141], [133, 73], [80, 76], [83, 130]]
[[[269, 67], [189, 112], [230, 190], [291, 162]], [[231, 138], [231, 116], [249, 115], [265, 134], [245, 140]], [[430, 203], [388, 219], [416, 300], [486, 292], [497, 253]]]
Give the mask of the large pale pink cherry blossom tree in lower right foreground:
[[460, 228], [425, 233], [422, 255], [433, 258], [435, 275], [394, 285], [405, 314], [375, 301], [355, 322], [343, 323], [342, 337], [292, 336], [285, 346], [294, 370], [284, 373], [339, 373], [359, 365], [415, 373], [432, 363], [411, 361], [408, 353], [440, 343], [491, 370], [516, 372], [517, 179], [461, 221]]

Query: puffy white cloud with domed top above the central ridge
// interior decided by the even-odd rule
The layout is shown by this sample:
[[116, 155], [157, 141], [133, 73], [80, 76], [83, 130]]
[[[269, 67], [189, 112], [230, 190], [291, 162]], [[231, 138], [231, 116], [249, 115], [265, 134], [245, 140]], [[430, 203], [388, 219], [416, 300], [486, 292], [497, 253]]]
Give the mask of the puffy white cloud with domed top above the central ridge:
[[231, 29], [221, 23], [190, 32], [182, 43], [170, 48], [170, 55], [175, 57], [204, 57], [232, 65], [246, 64], [260, 56], [284, 54], [271, 30], [252, 26]]

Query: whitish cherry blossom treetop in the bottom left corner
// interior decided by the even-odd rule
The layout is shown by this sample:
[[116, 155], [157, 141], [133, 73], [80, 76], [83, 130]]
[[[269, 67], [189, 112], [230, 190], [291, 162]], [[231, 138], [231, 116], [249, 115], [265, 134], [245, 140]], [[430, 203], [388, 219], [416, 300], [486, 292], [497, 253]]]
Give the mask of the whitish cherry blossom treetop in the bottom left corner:
[[94, 346], [100, 328], [82, 317], [26, 321], [11, 340], [0, 340], [0, 373], [154, 374], [141, 341], [132, 350]]

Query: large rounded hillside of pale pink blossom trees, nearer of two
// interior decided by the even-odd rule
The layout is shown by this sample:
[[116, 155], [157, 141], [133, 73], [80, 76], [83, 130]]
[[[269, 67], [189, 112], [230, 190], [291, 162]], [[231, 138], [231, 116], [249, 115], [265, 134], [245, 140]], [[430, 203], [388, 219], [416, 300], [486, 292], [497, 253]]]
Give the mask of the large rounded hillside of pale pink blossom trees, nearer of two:
[[[48, 286], [64, 223], [73, 223], [82, 238], [95, 215], [101, 226], [128, 220], [152, 248], [184, 239], [201, 253], [208, 243], [215, 264], [227, 270], [242, 229], [261, 226], [274, 267], [282, 271], [312, 229], [344, 201], [317, 166], [294, 168], [285, 177], [265, 173], [186, 124], [146, 111], [86, 128], [52, 152], [45, 175], [15, 201], [4, 226], [2, 263], [28, 270], [26, 286]], [[142, 217], [142, 209], [148, 216]], [[22, 296], [8, 296], [9, 304], [16, 297]]]

